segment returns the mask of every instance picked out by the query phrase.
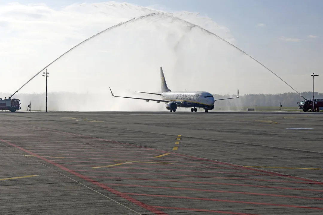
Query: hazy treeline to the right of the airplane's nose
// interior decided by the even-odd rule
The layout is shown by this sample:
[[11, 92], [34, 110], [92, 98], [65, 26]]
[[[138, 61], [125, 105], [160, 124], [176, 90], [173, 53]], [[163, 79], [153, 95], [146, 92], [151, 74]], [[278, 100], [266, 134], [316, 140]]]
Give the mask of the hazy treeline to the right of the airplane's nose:
[[[300, 93], [306, 99], [311, 99], [313, 92]], [[214, 98], [228, 98], [230, 95], [213, 94]], [[231, 97], [235, 97], [233, 95]], [[323, 93], [314, 92], [314, 98], [323, 99]], [[237, 101], [238, 100], [238, 101]], [[239, 99], [229, 99], [216, 102], [216, 106], [279, 106], [279, 102], [284, 107], [297, 107], [297, 102], [304, 99], [297, 93], [279, 93], [279, 94], [247, 94], [239, 97]]]

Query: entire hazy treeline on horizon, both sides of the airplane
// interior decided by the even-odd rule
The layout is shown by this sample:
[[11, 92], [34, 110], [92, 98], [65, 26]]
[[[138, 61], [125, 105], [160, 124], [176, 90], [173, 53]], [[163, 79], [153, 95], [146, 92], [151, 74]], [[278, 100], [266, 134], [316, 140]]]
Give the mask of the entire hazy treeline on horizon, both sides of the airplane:
[[[302, 92], [306, 99], [312, 98], [312, 92]], [[0, 98], [8, 98], [8, 93], [1, 93]], [[236, 97], [237, 95], [219, 95], [213, 94], [214, 98], [229, 98]], [[67, 92], [50, 92], [48, 93], [48, 106], [52, 110], [68, 109], [73, 110], [76, 107], [92, 106], [93, 98], [100, 98], [109, 103], [108, 95], [91, 95], [91, 94], [80, 94], [80, 93], [67, 93]], [[314, 93], [314, 97], [323, 99], [323, 93]], [[27, 106], [29, 102], [33, 104], [33, 109], [44, 110], [45, 109], [45, 93], [17, 93], [14, 98], [18, 98], [21, 104]], [[303, 101], [304, 99], [297, 93], [280, 93], [280, 94], [247, 94], [240, 95], [238, 99], [229, 99], [223, 101], [217, 101], [217, 107], [254, 107], [254, 106], [276, 106], [279, 107], [279, 102], [283, 107], [297, 107], [297, 102]], [[70, 107], [68, 107], [71, 105]], [[75, 105], [75, 106], [74, 106]], [[24, 107], [25, 108], [25, 107]]]

